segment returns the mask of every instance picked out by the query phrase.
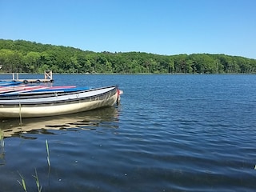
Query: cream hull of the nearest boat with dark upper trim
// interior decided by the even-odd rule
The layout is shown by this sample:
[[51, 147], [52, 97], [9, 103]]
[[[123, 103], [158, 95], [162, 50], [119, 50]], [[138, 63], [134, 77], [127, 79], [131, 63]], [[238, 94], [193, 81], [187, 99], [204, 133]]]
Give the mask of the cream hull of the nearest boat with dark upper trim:
[[74, 95], [34, 99], [0, 101], [0, 118], [34, 118], [73, 114], [114, 106], [118, 101], [118, 87], [88, 90]]

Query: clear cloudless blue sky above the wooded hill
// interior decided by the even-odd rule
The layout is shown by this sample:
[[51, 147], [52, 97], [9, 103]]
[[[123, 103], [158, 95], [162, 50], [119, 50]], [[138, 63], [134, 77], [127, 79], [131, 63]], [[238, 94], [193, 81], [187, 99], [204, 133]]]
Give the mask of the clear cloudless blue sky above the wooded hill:
[[256, 58], [255, 0], [0, 0], [0, 38]]

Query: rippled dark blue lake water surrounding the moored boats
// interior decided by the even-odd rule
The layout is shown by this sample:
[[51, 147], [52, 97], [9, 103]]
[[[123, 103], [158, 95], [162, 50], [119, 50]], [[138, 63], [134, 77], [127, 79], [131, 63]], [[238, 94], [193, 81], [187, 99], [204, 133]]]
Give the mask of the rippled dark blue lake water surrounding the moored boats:
[[124, 94], [119, 106], [101, 110], [24, 118], [22, 126], [2, 120], [0, 191], [22, 191], [20, 174], [27, 190], [37, 191], [35, 169], [42, 191], [256, 190], [256, 75], [54, 74], [54, 80], [118, 84]]

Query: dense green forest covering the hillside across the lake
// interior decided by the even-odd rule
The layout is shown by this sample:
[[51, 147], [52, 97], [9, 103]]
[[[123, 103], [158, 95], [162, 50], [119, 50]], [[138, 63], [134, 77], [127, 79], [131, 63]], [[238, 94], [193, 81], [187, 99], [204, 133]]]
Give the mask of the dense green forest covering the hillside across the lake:
[[0, 39], [0, 73], [255, 74], [256, 59], [225, 54], [95, 53], [69, 46]]

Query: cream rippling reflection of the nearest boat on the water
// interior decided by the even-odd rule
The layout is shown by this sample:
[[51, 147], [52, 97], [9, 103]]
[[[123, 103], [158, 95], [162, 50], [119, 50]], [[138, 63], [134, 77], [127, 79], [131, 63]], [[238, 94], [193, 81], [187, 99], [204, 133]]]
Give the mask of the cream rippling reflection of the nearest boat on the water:
[[81, 130], [95, 130], [98, 127], [117, 129], [118, 106], [54, 117], [22, 118], [22, 121], [19, 118], [8, 118], [0, 121], [0, 129], [4, 138], [22, 137], [33, 139], [22, 134], [53, 134], [50, 130], [66, 130], [70, 128]]

